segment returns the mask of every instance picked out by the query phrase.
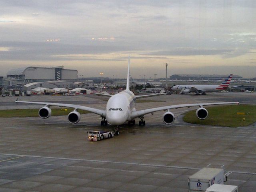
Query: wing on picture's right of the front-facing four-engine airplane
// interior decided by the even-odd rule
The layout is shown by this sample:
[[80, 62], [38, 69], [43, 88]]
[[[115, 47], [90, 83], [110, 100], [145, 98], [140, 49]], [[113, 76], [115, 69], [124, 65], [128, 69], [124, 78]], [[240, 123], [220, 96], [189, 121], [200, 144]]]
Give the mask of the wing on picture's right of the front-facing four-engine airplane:
[[156, 108], [151, 108], [151, 109], [144, 109], [144, 110], [138, 110], [138, 111], [134, 111], [131, 114], [131, 119], [134, 119], [136, 117], [141, 117], [143, 115], [149, 114], [149, 113], [153, 113], [156, 111], [161, 111], [161, 110], [169, 110], [169, 109], [173, 109], [173, 108], [182, 108], [182, 107], [195, 107], [195, 106], [199, 106], [199, 107], [203, 107], [203, 106], [209, 106], [209, 105], [224, 105], [224, 104], [239, 104], [239, 102], [219, 102], [219, 103], [196, 103], [196, 104], [179, 104], [179, 105], [170, 105], [170, 106], [163, 106], [163, 107], [156, 107]]

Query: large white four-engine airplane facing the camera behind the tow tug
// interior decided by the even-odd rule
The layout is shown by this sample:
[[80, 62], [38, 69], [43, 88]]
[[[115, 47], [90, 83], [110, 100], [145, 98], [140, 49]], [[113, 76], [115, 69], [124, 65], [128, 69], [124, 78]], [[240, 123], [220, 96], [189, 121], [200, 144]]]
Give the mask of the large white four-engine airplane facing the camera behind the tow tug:
[[198, 110], [196, 110], [196, 116], [199, 119], [205, 119], [208, 116], [208, 111], [203, 108], [203, 106], [209, 105], [221, 105], [221, 104], [238, 104], [239, 102], [218, 102], [218, 103], [198, 103], [198, 104], [178, 104], [178, 105], [170, 105], [170, 106], [162, 106], [144, 110], [136, 110], [135, 108], [135, 101], [136, 99], [152, 97], [152, 96], [159, 96], [163, 94], [150, 94], [150, 95], [141, 95], [135, 96], [133, 92], [130, 91], [130, 58], [128, 61], [128, 74], [127, 74], [127, 82], [126, 82], [126, 90], [115, 94], [115, 95], [108, 95], [108, 94], [98, 94], [102, 96], [110, 97], [107, 104], [106, 109], [96, 109], [86, 106], [80, 105], [73, 105], [73, 104], [61, 104], [61, 103], [48, 103], [48, 102], [27, 102], [27, 101], [18, 101], [17, 103], [31, 103], [31, 104], [42, 104], [45, 105], [44, 107], [40, 108], [38, 111], [39, 117], [46, 119], [51, 116], [51, 109], [50, 106], [60, 106], [60, 107], [68, 107], [74, 108], [73, 112], [68, 114], [68, 121], [71, 124], [76, 124], [80, 121], [80, 110], [87, 110], [94, 114], [98, 114], [102, 117], [101, 125], [111, 124], [113, 125], [116, 131], [116, 134], [119, 134], [118, 125], [122, 125], [128, 121], [129, 124], [135, 124], [135, 118], [140, 118], [139, 125], [145, 125], [144, 115], [146, 114], [153, 114], [156, 111], [166, 111], [163, 115], [163, 122], [165, 124], [172, 124], [174, 122], [175, 116], [171, 109], [174, 108], [182, 108], [182, 107], [193, 107], [198, 106]]

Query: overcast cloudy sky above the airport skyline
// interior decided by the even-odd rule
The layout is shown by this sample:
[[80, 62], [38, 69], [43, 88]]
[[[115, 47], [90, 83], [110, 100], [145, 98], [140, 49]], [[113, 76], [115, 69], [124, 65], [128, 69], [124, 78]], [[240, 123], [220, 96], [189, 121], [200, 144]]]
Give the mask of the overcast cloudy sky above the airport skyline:
[[26, 66], [78, 76], [256, 77], [255, 0], [0, 0], [0, 75]]

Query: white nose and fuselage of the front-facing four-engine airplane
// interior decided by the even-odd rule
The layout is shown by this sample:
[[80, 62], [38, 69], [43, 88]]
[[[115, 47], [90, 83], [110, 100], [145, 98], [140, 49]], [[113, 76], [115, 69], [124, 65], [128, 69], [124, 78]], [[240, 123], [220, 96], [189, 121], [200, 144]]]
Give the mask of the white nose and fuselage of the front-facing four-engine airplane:
[[106, 119], [109, 124], [121, 125], [132, 120], [131, 113], [135, 111], [135, 95], [130, 90], [124, 90], [109, 98], [106, 105]]

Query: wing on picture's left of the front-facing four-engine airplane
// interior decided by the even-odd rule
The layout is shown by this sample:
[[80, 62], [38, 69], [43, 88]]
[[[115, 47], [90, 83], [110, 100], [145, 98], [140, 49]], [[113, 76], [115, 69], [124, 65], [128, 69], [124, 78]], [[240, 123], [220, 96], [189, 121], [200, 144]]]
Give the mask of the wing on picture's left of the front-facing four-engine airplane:
[[69, 107], [69, 108], [90, 111], [90, 112], [100, 115], [102, 117], [106, 117], [105, 110], [95, 109], [95, 108], [81, 106], [81, 105], [72, 105], [72, 104], [64, 104], [64, 103], [62, 104], [62, 103], [33, 102], [33, 101], [18, 101], [18, 99], [16, 100], [16, 103], [31, 103], [31, 104], [47, 105], [49, 107], [50, 106]]

